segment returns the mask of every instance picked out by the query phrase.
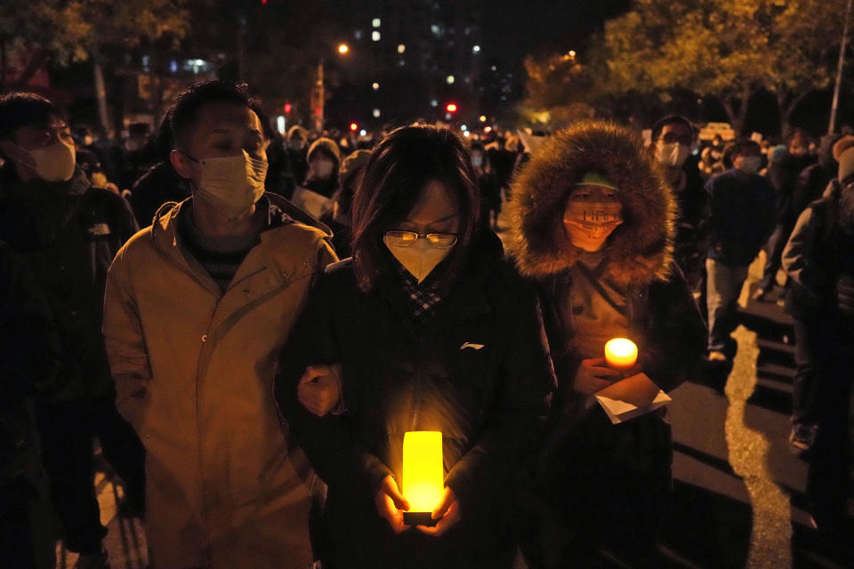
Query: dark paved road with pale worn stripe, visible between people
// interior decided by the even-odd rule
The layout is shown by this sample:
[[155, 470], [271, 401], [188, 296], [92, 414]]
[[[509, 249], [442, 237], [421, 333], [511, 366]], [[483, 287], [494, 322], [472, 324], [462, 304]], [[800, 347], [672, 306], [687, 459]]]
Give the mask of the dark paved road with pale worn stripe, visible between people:
[[[709, 373], [673, 392], [675, 507], [661, 566], [842, 567], [818, 549], [803, 496], [806, 464], [786, 446], [794, 367], [789, 322], [773, 300], [747, 302], [747, 290], [731, 373]], [[113, 568], [144, 567], [141, 521], [116, 515], [121, 488], [109, 477], [101, 474], [96, 486]], [[57, 551], [58, 567], [74, 565], [61, 544]]]

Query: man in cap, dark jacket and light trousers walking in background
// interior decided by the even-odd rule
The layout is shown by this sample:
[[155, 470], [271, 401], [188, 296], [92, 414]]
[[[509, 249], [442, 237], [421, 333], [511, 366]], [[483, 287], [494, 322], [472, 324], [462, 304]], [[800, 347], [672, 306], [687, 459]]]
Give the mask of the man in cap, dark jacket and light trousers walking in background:
[[733, 341], [736, 303], [747, 268], [768, 239], [777, 221], [774, 188], [757, 172], [761, 149], [741, 140], [732, 149], [733, 168], [706, 184], [712, 215], [706, 304], [709, 311], [709, 359], [724, 361]]

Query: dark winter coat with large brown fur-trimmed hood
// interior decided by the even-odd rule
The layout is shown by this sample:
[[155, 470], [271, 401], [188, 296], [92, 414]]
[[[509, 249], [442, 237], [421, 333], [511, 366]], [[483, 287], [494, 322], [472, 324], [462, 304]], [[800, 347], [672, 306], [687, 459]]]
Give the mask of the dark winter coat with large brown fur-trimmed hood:
[[[572, 387], [583, 357], [573, 341], [574, 313], [566, 307], [581, 252], [562, 218], [570, 192], [591, 169], [619, 188], [624, 223], [602, 248], [601, 278], [624, 292], [628, 335], [638, 344], [644, 373], [665, 391], [674, 389], [697, 365], [707, 332], [672, 262], [673, 195], [641, 140], [622, 127], [596, 122], [551, 137], [514, 181], [509, 205], [512, 250], [521, 274], [539, 288], [559, 382], [540, 463], [544, 510], [550, 512], [544, 517], [551, 520], [546, 525], [573, 525], [575, 533], [569, 533], [575, 539], [602, 526], [592, 530], [592, 540], [618, 541], [645, 534], [661, 521], [671, 434], [663, 413], [612, 425], [599, 405], [585, 408], [586, 397]], [[641, 492], [635, 484], [643, 486]], [[634, 526], [627, 527], [632, 519]], [[617, 531], [620, 523], [624, 533]], [[553, 537], [556, 530], [552, 525], [548, 531]], [[568, 563], [560, 557], [562, 547], [545, 551], [554, 566]]]

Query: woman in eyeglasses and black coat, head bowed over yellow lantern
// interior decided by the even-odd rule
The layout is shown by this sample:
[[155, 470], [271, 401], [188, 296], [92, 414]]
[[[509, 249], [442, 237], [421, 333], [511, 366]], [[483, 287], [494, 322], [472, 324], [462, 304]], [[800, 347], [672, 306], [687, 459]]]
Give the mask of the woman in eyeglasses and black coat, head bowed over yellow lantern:
[[[518, 467], [554, 377], [536, 296], [479, 224], [474, 171], [447, 129], [375, 148], [353, 201], [353, 257], [318, 277], [276, 399], [328, 485], [324, 567], [509, 567]], [[407, 525], [407, 431], [442, 433], [445, 488]]]

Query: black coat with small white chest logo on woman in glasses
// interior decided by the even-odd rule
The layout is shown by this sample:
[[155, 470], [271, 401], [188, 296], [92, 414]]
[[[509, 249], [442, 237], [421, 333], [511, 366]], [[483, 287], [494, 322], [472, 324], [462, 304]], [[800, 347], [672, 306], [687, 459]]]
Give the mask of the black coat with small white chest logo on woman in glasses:
[[[500, 530], [512, 513], [510, 479], [545, 421], [554, 379], [536, 295], [502, 256], [485, 232], [424, 329], [415, 326], [396, 277], [361, 293], [352, 260], [319, 277], [282, 358], [277, 400], [329, 485], [334, 566], [512, 562], [512, 542]], [[288, 405], [305, 365], [335, 362], [346, 413], [318, 420]], [[463, 521], [438, 541], [415, 530], [394, 536], [375, 513], [383, 478], [401, 480], [409, 430], [443, 434], [446, 485]], [[364, 557], [378, 554], [382, 562]]]

